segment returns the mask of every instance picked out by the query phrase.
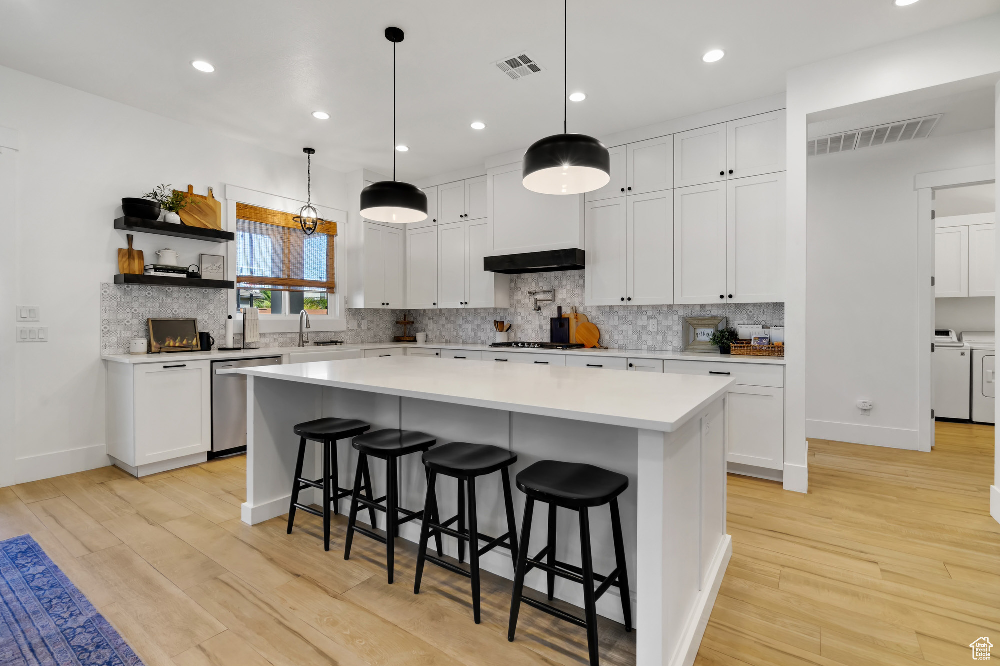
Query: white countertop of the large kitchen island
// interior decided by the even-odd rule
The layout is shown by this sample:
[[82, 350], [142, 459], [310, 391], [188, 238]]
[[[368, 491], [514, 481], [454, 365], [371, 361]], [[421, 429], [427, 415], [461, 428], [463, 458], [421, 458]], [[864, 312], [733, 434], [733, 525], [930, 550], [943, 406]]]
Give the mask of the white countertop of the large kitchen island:
[[437, 400], [474, 407], [672, 432], [729, 390], [734, 380], [384, 356], [237, 370], [269, 379]]

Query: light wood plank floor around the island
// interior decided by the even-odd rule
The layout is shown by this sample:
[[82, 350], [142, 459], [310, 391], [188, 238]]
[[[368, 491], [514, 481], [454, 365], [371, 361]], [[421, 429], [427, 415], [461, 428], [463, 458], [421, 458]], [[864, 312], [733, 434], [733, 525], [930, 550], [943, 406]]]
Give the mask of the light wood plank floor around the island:
[[[1000, 637], [1000, 524], [989, 516], [993, 428], [938, 425], [929, 454], [813, 441], [810, 492], [730, 475], [733, 559], [697, 664], [971, 663]], [[583, 630], [529, 606], [506, 639], [509, 583], [468, 581], [355, 539], [344, 561], [319, 520], [286, 535], [239, 519], [245, 461], [135, 479], [105, 467], [0, 488], [0, 538], [31, 533], [149, 666], [578, 664]], [[602, 663], [634, 664], [606, 621]], [[995, 641], [1000, 644], [1000, 641]]]

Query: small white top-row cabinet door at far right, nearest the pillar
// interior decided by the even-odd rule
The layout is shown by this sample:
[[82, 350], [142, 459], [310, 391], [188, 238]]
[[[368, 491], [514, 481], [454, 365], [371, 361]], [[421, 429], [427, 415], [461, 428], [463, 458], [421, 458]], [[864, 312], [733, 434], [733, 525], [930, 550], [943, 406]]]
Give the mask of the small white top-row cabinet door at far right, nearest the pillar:
[[746, 178], [785, 170], [785, 110], [726, 123], [726, 177]]

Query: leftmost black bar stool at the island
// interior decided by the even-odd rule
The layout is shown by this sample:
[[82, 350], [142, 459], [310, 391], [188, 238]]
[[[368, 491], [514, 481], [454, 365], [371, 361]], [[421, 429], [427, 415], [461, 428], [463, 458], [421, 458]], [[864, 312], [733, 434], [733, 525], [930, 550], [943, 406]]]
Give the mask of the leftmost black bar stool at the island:
[[[340, 498], [351, 494], [348, 488], [340, 487], [340, 471], [337, 465], [337, 440], [360, 435], [371, 428], [370, 423], [358, 419], [338, 419], [326, 417], [314, 421], [305, 421], [295, 426], [295, 434], [299, 440], [299, 457], [295, 462], [295, 481], [292, 484], [292, 502], [288, 507], [288, 533], [292, 533], [295, 525], [295, 510], [302, 509], [311, 514], [323, 517], [323, 547], [330, 550], [330, 504], [333, 503], [334, 513], [339, 514], [337, 506]], [[309, 440], [323, 443], [323, 476], [319, 479], [307, 479], [302, 476], [302, 463], [306, 457], [306, 443]], [[371, 482], [367, 482], [371, 487]], [[331, 485], [336, 488], [331, 492]], [[323, 509], [317, 510], [299, 502], [299, 491], [303, 488], [321, 488], [323, 490]], [[375, 512], [372, 512], [374, 520]]]

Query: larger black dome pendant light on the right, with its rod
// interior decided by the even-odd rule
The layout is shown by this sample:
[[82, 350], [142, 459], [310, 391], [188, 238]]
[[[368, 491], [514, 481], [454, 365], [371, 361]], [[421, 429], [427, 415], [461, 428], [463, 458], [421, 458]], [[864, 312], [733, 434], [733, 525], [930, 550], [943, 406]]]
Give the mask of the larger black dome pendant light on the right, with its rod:
[[604, 144], [592, 136], [567, 131], [568, 26], [569, 0], [563, 0], [563, 133], [536, 141], [524, 154], [524, 186], [541, 194], [592, 192], [611, 180], [611, 155]]

